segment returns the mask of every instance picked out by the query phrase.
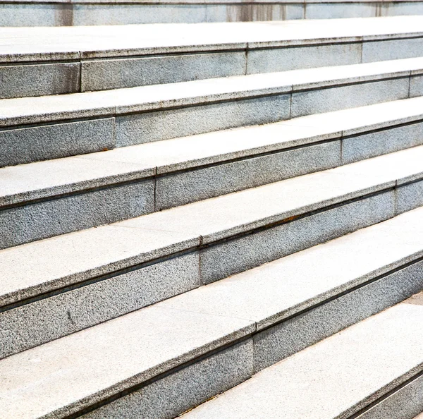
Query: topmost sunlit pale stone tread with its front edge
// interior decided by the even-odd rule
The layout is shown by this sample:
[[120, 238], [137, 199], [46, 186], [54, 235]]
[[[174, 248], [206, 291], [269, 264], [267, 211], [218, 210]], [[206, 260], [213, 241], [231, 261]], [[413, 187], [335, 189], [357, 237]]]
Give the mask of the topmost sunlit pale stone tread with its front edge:
[[247, 23], [0, 28], [0, 62], [134, 56], [422, 34], [422, 16]]

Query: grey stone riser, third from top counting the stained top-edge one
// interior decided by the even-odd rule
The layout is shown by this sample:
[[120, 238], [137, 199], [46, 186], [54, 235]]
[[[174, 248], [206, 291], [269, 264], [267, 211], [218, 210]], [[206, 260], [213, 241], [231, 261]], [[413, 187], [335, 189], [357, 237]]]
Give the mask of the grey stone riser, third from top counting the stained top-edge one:
[[[422, 95], [422, 80], [421, 75], [413, 75], [410, 78], [334, 85], [292, 94], [274, 95], [269, 92], [264, 97], [235, 98], [230, 102], [110, 115], [106, 119], [95, 118], [84, 122], [58, 121], [49, 125], [4, 128], [0, 130], [0, 166], [56, 159], [417, 97]], [[223, 114], [226, 115], [224, 119], [221, 118]]]

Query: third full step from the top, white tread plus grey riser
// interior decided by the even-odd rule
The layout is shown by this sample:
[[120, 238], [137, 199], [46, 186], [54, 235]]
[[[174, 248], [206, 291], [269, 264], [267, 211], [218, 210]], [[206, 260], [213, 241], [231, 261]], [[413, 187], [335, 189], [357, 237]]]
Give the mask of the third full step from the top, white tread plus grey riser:
[[423, 97], [0, 169], [0, 248], [423, 145]]

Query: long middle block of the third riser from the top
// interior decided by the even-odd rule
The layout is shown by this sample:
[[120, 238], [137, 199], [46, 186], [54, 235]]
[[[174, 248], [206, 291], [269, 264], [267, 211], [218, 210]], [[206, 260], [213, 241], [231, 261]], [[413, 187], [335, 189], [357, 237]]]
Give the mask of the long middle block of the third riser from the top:
[[[289, 118], [290, 96], [278, 95], [116, 117], [116, 146], [166, 140]], [[222, 115], [225, 115], [222, 118]]]

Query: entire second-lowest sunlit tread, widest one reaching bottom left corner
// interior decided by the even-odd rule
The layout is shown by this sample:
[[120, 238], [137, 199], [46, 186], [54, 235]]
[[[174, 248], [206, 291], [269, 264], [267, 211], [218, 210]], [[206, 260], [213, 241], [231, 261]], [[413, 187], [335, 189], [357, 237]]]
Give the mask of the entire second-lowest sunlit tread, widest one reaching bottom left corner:
[[[422, 253], [423, 234], [416, 233], [423, 229], [422, 212], [423, 209], [416, 209], [1, 360], [0, 376], [8, 383], [8, 387], [0, 389], [0, 393], [3, 391], [1, 411], [13, 413], [13, 418], [35, 418], [57, 409], [71, 413], [69, 406], [78, 410], [81, 405], [99, 401], [255, 332], [264, 325], [259, 320], [269, 318], [272, 310], [281, 313], [288, 304], [298, 309], [299, 302], [307, 303], [312, 294], [319, 298], [328, 290], [340, 292], [343, 281], [353, 286], [353, 277], [362, 281], [366, 276], [374, 276], [376, 271], [404, 264]], [[311, 261], [319, 258], [316, 267]], [[338, 267], [341, 278], [334, 278], [333, 266]], [[348, 269], [342, 269], [343, 266], [351, 267], [352, 271], [345, 272]], [[256, 285], [252, 284], [253, 277]], [[305, 289], [307, 286], [312, 288], [309, 292]], [[281, 298], [284, 288], [286, 296]], [[240, 310], [242, 289], [245, 291], [244, 310]], [[214, 293], [216, 298], [223, 292], [224, 299], [238, 305], [238, 310], [226, 310], [226, 303], [221, 299], [220, 307], [213, 313], [204, 312], [201, 304], [197, 305], [201, 300], [197, 298], [200, 290], [207, 290], [203, 296]], [[261, 291], [256, 293], [258, 290]], [[183, 298], [192, 300], [192, 305], [181, 305]], [[202, 301], [204, 306], [210, 302], [207, 297]], [[263, 304], [268, 308], [257, 310]], [[274, 317], [274, 321], [279, 320], [281, 316]], [[57, 374], [61, 379], [57, 379]]]

